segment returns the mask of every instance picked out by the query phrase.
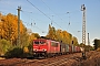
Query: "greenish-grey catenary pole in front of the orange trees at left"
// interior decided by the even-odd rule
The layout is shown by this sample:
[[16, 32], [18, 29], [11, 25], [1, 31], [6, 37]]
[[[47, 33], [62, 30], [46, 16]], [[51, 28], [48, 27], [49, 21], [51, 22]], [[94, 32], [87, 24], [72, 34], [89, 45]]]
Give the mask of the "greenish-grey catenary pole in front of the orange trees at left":
[[21, 7], [18, 7], [18, 40], [17, 40], [17, 45], [20, 46], [20, 11]]

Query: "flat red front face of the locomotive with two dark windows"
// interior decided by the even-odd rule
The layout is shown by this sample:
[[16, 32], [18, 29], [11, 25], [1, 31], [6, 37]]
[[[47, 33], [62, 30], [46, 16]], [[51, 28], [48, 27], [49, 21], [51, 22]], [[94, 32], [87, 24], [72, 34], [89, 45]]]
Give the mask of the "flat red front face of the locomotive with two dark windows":
[[33, 40], [33, 55], [44, 56], [47, 53], [47, 40]]

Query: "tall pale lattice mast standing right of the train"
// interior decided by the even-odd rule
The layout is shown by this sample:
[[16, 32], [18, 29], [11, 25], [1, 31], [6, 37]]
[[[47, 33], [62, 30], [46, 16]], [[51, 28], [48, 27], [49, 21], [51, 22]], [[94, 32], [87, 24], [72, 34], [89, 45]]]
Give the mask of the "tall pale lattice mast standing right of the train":
[[[86, 7], [84, 4], [81, 6], [81, 11], [83, 12], [82, 15], [82, 47], [83, 44], [86, 45]], [[86, 47], [83, 47], [82, 57], [86, 58]]]

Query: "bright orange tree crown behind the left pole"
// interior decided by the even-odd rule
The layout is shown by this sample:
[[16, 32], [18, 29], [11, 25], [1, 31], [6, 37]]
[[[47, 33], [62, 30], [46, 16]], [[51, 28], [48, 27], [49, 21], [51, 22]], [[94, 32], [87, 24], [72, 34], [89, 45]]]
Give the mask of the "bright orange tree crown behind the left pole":
[[[12, 44], [17, 44], [18, 37], [18, 16], [11, 13], [2, 15], [2, 38], [10, 41]], [[24, 25], [20, 21], [20, 34], [24, 33]]]

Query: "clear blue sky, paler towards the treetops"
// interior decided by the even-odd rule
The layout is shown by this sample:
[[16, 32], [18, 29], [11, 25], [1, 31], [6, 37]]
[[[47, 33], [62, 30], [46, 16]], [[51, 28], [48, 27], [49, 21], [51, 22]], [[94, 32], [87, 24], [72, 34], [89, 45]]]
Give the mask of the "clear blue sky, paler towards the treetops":
[[82, 4], [86, 7], [86, 44], [89, 33], [92, 45], [94, 38], [100, 40], [100, 0], [0, 0], [0, 12], [18, 15], [17, 9], [21, 7], [20, 19], [33, 33], [44, 36], [51, 24], [82, 43]]

